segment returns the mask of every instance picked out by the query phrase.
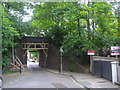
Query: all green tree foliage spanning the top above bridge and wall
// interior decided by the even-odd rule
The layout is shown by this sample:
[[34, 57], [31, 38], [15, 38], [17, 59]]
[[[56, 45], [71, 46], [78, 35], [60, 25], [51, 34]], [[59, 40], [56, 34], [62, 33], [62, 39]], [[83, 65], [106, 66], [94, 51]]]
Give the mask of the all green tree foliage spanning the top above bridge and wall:
[[[63, 46], [64, 55], [71, 61], [86, 62], [88, 58], [83, 60], [81, 56], [86, 56], [87, 50], [93, 49], [98, 55], [103, 47], [118, 43], [119, 14], [115, 5], [107, 2], [89, 2], [88, 5], [45, 2], [35, 6], [22, 2], [2, 3], [3, 56], [16, 45], [14, 40], [23, 36], [50, 36], [57, 48]], [[23, 22], [27, 15], [25, 7], [34, 7], [32, 21]]]

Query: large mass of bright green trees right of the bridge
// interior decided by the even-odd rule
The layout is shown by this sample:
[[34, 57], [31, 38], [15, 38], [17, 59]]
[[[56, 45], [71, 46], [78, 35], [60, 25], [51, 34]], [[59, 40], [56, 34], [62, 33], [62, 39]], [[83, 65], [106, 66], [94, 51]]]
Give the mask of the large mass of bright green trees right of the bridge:
[[50, 36], [57, 47], [62, 45], [70, 60], [82, 62], [79, 58], [87, 50], [100, 52], [116, 45], [118, 22], [113, 9], [107, 2], [40, 3], [34, 9], [32, 25]]

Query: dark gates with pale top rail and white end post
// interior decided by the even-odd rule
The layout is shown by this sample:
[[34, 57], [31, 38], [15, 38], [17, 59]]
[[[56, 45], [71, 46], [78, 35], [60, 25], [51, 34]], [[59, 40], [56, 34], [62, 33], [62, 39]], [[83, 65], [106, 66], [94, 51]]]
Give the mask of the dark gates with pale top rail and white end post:
[[113, 83], [120, 83], [120, 64], [115, 61], [115, 58], [95, 56], [92, 63], [93, 75], [110, 80]]

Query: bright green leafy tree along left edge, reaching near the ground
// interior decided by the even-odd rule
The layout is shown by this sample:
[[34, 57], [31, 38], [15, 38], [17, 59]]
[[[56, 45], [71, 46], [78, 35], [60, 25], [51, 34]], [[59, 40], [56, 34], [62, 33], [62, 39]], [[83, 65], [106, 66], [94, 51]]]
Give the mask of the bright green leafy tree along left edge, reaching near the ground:
[[12, 27], [12, 22], [9, 20], [9, 14], [5, 11], [5, 7], [2, 7], [2, 52], [3, 52], [3, 67], [9, 64], [10, 49], [15, 46], [13, 42], [14, 37], [18, 37], [19, 33]]

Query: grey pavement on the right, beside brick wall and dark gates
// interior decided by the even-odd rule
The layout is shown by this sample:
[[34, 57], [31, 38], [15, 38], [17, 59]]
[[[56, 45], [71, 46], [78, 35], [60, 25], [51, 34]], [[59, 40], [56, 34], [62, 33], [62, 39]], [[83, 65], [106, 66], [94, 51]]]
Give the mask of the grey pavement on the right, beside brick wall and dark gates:
[[[51, 73], [59, 74], [59, 72], [54, 69], [46, 69], [46, 70]], [[118, 88], [118, 85], [112, 84], [111, 81], [103, 78], [98, 78], [91, 74], [63, 71], [62, 75], [72, 76], [77, 83], [83, 85], [86, 88]]]

